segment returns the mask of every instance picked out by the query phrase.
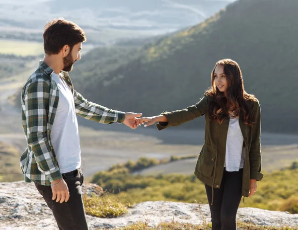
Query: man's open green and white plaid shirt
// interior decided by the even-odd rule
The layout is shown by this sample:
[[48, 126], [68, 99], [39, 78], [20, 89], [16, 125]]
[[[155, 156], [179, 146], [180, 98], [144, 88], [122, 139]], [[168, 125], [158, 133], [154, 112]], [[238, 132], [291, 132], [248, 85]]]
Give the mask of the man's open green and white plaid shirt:
[[[20, 166], [26, 182], [34, 181], [47, 186], [62, 177], [51, 143], [51, 130], [59, 102], [59, 90], [51, 79], [52, 72], [53, 69], [41, 61], [21, 94], [22, 125], [27, 149], [21, 156]], [[74, 90], [68, 73], [61, 72], [60, 76], [72, 89], [77, 115], [104, 124], [124, 121], [125, 113], [87, 101]]]

